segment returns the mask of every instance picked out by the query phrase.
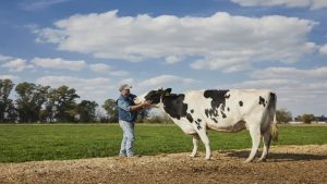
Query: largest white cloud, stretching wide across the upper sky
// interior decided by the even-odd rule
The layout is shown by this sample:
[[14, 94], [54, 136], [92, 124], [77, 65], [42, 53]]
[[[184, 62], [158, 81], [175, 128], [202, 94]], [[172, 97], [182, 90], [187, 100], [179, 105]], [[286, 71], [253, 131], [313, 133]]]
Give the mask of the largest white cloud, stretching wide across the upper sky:
[[307, 35], [317, 23], [298, 17], [223, 12], [208, 17], [133, 17], [117, 13], [73, 15], [56, 22], [53, 28], [39, 29], [37, 40], [56, 44], [60, 50], [134, 62], [198, 58], [193, 69], [227, 72], [249, 69], [253, 62], [295, 62], [316, 49], [307, 42]]

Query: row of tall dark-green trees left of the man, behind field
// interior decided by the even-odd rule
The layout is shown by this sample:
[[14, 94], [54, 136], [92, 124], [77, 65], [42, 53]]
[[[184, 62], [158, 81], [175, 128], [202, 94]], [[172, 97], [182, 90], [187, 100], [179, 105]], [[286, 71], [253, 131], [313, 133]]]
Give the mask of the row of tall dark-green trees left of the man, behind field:
[[[10, 94], [15, 90], [15, 100]], [[95, 122], [97, 102], [76, 99], [76, 90], [68, 86], [51, 88], [33, 83], [15, 86], [0, 79], [0, 122]]]

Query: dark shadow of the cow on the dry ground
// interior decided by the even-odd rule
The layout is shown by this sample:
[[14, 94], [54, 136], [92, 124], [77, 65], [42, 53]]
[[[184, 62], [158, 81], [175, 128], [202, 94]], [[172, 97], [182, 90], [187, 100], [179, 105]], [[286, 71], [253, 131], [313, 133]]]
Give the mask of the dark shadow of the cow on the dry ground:
[[[225, 152], [227, 157], [238, 157], [246, 159], [250, 155], [250, 150], [231, 150]], [[261, 157], [262, 152], [258, 151], [256, 158]], [[269, 152], [267, 161], [311, 161], [311, 160], [327, 160], [326, 156], [312, 155], [312, 154], [289, 154], [289, 152]]]

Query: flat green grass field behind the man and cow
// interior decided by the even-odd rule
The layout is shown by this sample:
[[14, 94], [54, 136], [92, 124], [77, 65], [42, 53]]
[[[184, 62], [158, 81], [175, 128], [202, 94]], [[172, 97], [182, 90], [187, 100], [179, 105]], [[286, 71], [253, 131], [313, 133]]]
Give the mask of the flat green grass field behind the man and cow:
[[[327, 126], [280, 126], [272, 145], [327, 144]], [[192, 137], [174, 124], [136, 124], [136, 155], [191, 152]], [[122, 132], [118, 124], [0, 125], [0, 162], [65, 160], [117, 156]], [[247, 131], [209, 132], [213, 150], [250, 148]], [[204, 151], [201, 144], [199, 151]]]

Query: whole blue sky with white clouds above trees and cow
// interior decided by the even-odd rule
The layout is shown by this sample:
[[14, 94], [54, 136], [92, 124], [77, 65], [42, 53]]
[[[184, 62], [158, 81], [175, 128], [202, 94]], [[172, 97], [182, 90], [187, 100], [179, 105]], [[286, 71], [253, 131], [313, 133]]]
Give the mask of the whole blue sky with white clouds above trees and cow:
[[327, 114], [327, 0], [0, 2], [0, 78], [68, 85], [99, 105], [119, 84], [268, 88], [293, 115]]

